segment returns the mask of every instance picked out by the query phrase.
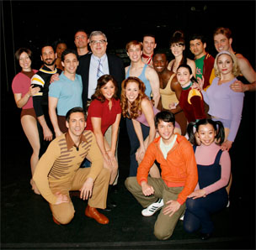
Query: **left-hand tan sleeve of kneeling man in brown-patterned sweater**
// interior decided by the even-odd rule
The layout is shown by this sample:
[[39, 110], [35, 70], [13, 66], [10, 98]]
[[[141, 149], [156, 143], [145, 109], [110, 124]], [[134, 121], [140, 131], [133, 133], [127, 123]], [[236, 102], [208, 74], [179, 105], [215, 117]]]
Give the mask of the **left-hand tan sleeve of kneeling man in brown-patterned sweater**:
[[35, 185], [40, 190], [41, 195], [51, 204], [55, 204], [57, 198], [51, 192], [48, 174], [60, 154], [61, 150], [56, 145], [56, 140], [52, 141], [36, 165], [35, 174], [33, 175], [33, 180], [35, 180]]

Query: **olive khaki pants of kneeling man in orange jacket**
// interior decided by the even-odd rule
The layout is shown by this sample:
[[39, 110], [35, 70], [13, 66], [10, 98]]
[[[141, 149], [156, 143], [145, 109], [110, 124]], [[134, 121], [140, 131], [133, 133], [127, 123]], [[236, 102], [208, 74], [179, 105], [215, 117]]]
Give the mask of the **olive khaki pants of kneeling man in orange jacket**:
[[[170, 200], [177, 200], [179, 193], [184, 187], [168, 187], [162, 178], [151, 178], [147, 179], [148, 184], [152, 185], [155, 193], [150, 196], [145, 196], [142, 193], [141, 185], [137, 183], [136, 177], [128, 177], [125, 180], [126, 188], [131, 192], [136, 198], [141, 206], [147, 207], [153, 202], [157, 201], [157, 198], [163, 198], [164, 204]], [[165, 206], [163, 206], [164, 208]], [[154, 234], [159, 240], [167, 240], [172, 236], [173, 230], [176, 227], [179, 217], [184, 213], [185, 203], [180, 206], [179, 211], [176, 211], [173, 216], [168, 216], [163, 214], [163, 208], [157, 216], [157, 221], [154, 227]]]

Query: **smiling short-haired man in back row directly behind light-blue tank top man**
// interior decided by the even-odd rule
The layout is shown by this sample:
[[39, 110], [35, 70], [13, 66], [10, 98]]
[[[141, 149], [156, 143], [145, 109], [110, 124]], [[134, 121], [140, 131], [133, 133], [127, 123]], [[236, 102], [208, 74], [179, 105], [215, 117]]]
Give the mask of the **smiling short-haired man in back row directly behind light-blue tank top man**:
[[154, 34], [144, 34], [142, 39], [142, 55], [141, 60], [143, 63], [153, 67], [152, 57], [154, 55], [154, 49], [156, 49], [156, 38]]

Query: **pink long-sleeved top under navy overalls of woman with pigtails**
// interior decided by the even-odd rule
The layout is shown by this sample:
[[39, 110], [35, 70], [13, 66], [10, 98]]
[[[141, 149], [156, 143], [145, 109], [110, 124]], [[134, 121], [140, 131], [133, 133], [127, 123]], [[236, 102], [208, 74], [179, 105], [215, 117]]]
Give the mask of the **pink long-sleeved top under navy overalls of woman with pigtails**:
[[[216, 154], [220, 149], [221, 147], [216, 143], [211, 143], [210, 146], [205, 146], [204, 144], [201, 144], [200, 146], [196, 147], [196, 150], [195, 150], [196, 164], [200, 164], [200, 165], [214, 164], [214, 161], [216, 159]], [[229, 181], [231, 160], [227, 150], [223, 151], [221, 154], [220, 165], [221, 165], [221, 179], [217, 180], [215, 183], [208, 185], [207, 187], [204, 188], [206, 195], [211, 194], [212, 192], [226, 186]], [[199, 189], [200, 189], [199, 185], [197, 184], [195, 187], [195, 190], [199, 190]]]

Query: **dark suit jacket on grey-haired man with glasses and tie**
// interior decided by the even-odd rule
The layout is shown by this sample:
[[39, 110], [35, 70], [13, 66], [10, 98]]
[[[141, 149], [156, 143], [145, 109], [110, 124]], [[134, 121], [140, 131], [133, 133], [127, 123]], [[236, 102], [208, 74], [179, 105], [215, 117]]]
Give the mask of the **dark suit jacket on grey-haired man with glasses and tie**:
[[[83, 109], [86, 110], [87, 108], [87, 101], [88, 101], [88, 81], [89, 81], [89, 68], [90, 68], [90, 61], [91, 56], [93, 54], [88, 54], [87, 56], [83, 56], [79, 58], [79, 65], [77, 68], [77, 74], [82, 76], [83, 81], [83, 93], [82, 93], [82, 100], [83, 100]], [[112, 54], [107, 54], [108, 62], [109, 62], [109, 75], [115, 78], [115, 81], [118, 83], [119, 87], [119, 96], [121, 90], [121, 83], [125, 80], [125, 67], [123, 61], [120, 57]]]

